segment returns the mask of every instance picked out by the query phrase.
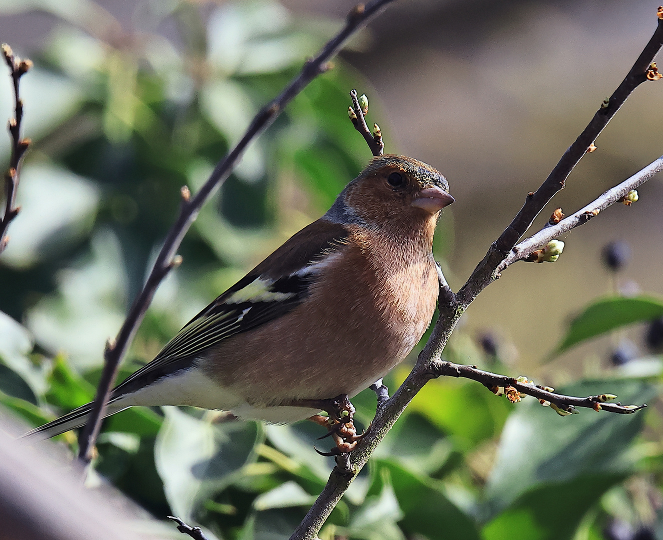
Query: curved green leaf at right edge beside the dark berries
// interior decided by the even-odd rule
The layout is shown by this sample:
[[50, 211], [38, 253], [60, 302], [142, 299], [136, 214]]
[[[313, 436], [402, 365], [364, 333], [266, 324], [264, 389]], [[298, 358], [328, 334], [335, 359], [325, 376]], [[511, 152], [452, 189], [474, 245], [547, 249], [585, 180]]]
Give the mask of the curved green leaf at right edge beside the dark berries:
[[624, 325], [650, 321], [663, 315], [663, 300], [647, 296], [602, 298], [573, 319], [568, 332], [549, 358], [567, 351], [585, 339]]

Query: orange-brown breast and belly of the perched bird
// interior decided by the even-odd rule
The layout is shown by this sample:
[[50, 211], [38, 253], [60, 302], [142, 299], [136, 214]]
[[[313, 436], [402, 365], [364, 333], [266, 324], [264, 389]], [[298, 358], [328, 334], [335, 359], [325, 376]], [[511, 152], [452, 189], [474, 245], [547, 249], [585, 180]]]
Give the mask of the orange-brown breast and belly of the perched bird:
[[421, 240], [395, 245], [354, 231], [304, 303], [222, 341], [202, 368], [252, 405], [355, 395], [402, 361], [430, 324], [438, 278]]

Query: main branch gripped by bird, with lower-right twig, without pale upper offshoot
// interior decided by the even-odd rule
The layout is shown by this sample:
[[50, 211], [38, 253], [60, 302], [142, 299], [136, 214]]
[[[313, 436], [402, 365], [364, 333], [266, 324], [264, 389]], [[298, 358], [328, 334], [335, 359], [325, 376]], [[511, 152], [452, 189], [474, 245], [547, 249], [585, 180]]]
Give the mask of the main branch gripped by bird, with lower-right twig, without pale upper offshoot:
[[[663, 17], [663, 10], [659, 13], [661, 14], [660, 17]], [[558, 162], [536, 193], [530, 193], [527, 196], [526, 203], [513, 219], [511, 225], [491, 245], [491, 248], [479, 265], [477, 265], [477, 268], [475, 268], [467, 282], [465, 282], [465, 285], [453, 297], [453, 301], [446, 300], [447, 298], [451, 299], [451, 296], [446, 292], [448, 285], [446, 284], [446, 280], [444, 280], [442, 270], [439, 270], [440, 276], [442, 276], [440, 278], [440, 286], [446, 299], [438, 303], [440, 317], [438, 317], [438, 321], [433, 327], [433, 331], [426, 342], [424, 350], [420, 352], [416, 364], [406, 380], [394, 392], [394, 395], [382, 407], [379, 407], [373, 423], [371, 423], [370, 431], [366, 437], [359, 441], [359, 444], [351, 453], [350, 465], [354, 476], [348, 476], [343, 471], [338, 470], [337, 467], [333, 468], [322, 493], [318, 496], [318, 499], [311, 506], [308, 513], [306, 513], [306, 517], [304, 517], [300, 525], [292, 533], [290, 540], [316, 540], [322, 525], [324, 525], [337, 502], [341, 500], [353, 478], [359, 474], [359, 471], [367, 463], [377, 445], [384, 439], [394, 423], [396, 423], [396, 420], [410, 401], [412, 401], [412, 398], [432, 378], [443, 375], [466, 376], [473, 380], [479, 380], [479, 382], [484, 384], [489, 383], [488, 386], [503, 386], [507, 384], [507, 386], [514, 386], [520, 393], [530, 394], [534, 397], [541, 396], [539, 399], [555, 404], [563, 410], [564, 407], [573, 405], [598, 409], [597, 405], [600, 405], [601, 409], [605, 411], [632, 413], [644, 406], [630, 408], [617, 404], [599, 403], [599, 396], [591, 396], [590, 398], [560, 396], [559, 394], [547, 392], [543, 388], [518, 383], [513, 378], [483, 372], [475, 366], [459, 366], [450, 362], [442, 362], [440, 356], [465, 309], [467, 309], [469, 304], [483, 289], [499, 278], [497, 269], [509, 252], [511, 252], [518, 239], [524, 235], [536, 215], [546, 206], [555, 193], [564, 188], [566, 178], [568, 178], [577, 162], [587, 152], [587, 148], [593, 144], [599, 133], [603, 131], [603, 128], [605, 128], [615, 113], [617, 113], [617, 110], [623, 105], [627, 97], [631, 95], [640, 83], [647, 80], [647, 72], [651, 71], [648, 68], [650, 68], [651, 62], [654, 60], [654, 56], [660, 50], [662, 44], [663, 21], [659, 18], [658, 27], [654, 35], [644, 50], [642, 50], [642, 53], [625, 80], [607, 100], [607, 103], [604, 102], [605, 107], [601, 107], [597, 111], [583, 133], [566, 150], [560, 162]], [[501, 384], [497, 384], [497, 382], [501, 382]], [[516, 385], [512, 384], [513, 382]], [[597, 401], [594, 401], [593, 398]]]

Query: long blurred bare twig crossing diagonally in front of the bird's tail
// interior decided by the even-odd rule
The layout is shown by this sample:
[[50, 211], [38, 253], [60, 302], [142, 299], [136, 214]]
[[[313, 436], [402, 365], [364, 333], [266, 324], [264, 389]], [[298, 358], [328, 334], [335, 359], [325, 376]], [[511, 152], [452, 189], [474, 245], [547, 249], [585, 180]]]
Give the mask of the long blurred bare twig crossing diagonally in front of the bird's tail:
[[108, 341], [103, 354], [104, 366], [97, 386], [88, 423], [82, 429], [79, 439], [78, 457], [86, 462], [91, 459], [91, 450], [99, 435], [101, 419], [111, 395], [111, 390], [117, 378], [117, 370], [122, 358], [125, 356], [133, 337], [143, 321], [147, 307], [154, 297], [154, 292], [168, 272], [181, 262], [176, 258], [176, 252], [184, 239], [184, 235], [192, 225], [198, 212], [210, 198], [212, 193], [225, 181], [233, 168], [239, 162], [249, 143], [272, 125], [281, 111], [300, 93], [310, 81], [331, 68], [329, 60], [341, 50], [341, 47], [354, 32], [365, 26], [370, 19], [380, 13], [394, 0], [374, 0], [368, 5], [359, 4], [347, 15], [345, 26], [333, 36], [318, 52], [318, 56], [308, 60], [304, 67], [285, 89], [255, 116], [251, 125], [237, 145], [226, 154], [214, 168], [210, 178], [204, 186], [190, 198], [188, 189], [182, 189], [182, 205], [180, 214], [174, 225], [168, 231], [164, 244], [154, 262], [154, 267], [143, 290], [133, 301], [129, 314], [125, 319], [114, 341]]

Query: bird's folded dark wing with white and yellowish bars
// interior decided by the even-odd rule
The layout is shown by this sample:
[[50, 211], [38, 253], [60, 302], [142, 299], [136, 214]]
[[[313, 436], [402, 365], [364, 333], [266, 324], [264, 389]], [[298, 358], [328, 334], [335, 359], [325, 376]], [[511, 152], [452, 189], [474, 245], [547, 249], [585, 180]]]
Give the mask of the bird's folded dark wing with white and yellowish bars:
[[154, 360], [125, 379], [112, 399], [190, 368], [200, 352], [273, 321], [309, 294], [317, 270], [347, 243], [348, 232], [319, 219], [291, 237], [184, 326]]

